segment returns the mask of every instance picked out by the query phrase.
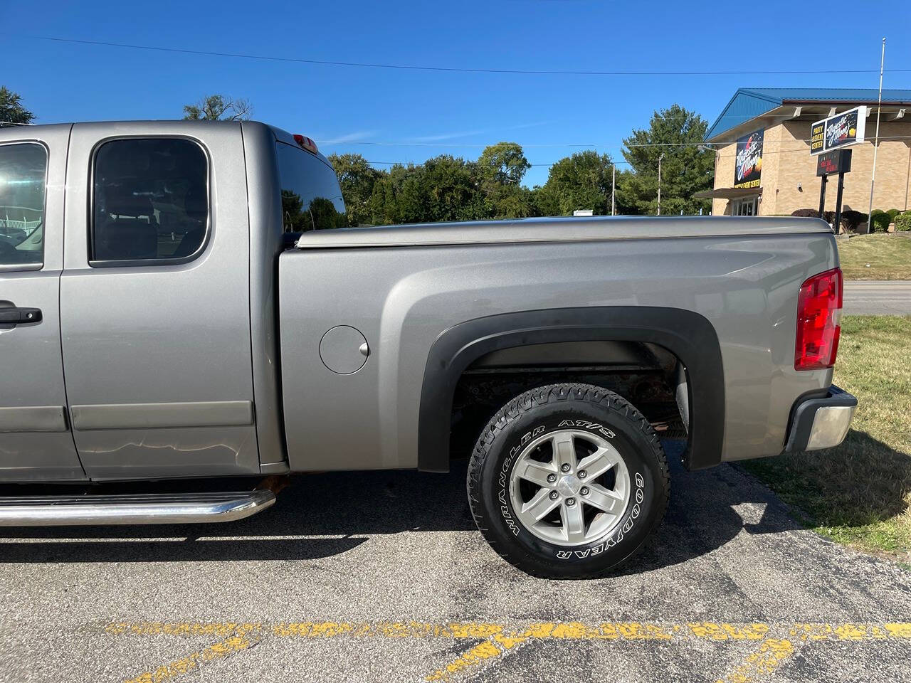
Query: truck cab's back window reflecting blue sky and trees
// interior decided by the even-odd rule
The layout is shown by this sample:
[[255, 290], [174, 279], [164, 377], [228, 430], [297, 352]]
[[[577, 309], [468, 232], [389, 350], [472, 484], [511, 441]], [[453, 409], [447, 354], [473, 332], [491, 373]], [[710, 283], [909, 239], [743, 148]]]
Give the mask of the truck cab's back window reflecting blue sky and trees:
[[302, 148], [277, 145], [284, 232], [344, 228], [348, 221], [333, 168]]

